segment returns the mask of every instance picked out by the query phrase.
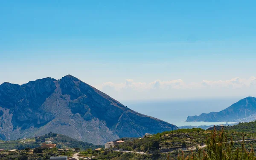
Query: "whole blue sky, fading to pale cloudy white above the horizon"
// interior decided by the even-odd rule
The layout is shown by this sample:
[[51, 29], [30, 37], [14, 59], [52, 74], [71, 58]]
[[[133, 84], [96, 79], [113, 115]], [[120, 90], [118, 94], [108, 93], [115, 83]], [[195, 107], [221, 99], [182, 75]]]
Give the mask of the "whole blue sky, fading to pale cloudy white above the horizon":
[[255, 10], [253, 0], [0, 1], [0, 84], [71, 74], [116, 99], [255, 95]]

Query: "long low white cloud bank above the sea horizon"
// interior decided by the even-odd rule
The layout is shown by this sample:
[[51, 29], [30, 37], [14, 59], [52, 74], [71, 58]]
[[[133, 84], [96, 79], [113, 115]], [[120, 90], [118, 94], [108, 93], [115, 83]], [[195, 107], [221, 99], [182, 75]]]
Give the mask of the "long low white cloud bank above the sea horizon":
[[256, 77], [230, 80], [184, 82], [181, 79], [137, 82], [126, 79], [122, 83], [105, 82], [100, 90], [115, 99], [186, 99], [201, 97], [256, 96]]

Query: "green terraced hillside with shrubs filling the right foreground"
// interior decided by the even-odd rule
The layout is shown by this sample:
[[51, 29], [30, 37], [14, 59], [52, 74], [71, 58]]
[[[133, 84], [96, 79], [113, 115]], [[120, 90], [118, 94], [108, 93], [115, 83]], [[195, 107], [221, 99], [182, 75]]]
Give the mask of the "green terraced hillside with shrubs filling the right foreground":
[[120, 151], [110, 149], [96, 156], [98, 160], [256, 160], [253, 146], [252, 132], [193, 128], [127, 140], [117, 146]]

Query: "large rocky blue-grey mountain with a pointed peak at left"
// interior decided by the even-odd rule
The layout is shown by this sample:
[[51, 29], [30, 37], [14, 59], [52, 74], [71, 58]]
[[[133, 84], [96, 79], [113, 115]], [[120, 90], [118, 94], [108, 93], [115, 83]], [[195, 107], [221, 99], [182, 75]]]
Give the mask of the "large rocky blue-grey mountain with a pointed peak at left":
[[71, 75], [27, 84], [0, 85], [0, 139], [16, 140], [50, 131], [103, 144], [120, 137], [177, 129], [137, 113]]

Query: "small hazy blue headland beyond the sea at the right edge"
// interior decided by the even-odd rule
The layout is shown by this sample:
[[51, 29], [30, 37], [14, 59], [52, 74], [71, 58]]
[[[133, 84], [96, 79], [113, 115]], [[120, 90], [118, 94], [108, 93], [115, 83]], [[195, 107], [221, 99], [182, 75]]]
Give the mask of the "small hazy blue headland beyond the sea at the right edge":
[[256, 98], [247, 97], [220, 112], [202, 113], [200, 116], [188, 116], [186, 122], [236, 122], [256, 119]]

